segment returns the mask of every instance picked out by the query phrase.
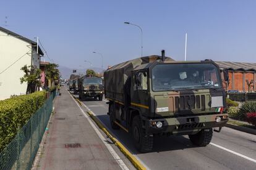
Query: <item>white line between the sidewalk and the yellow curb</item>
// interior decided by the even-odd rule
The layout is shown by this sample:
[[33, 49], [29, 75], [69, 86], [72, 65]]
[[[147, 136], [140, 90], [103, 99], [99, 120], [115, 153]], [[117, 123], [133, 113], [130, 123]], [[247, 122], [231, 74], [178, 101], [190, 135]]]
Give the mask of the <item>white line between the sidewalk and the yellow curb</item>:
[[[71, 95], [71, 94], [70, 94]], [[72, 95], [71, 95], [72, 97]], [[83, 113], [83, 116], [85, 116], [85, 118], [87, 118], [88, 122], [91, 124], [91, 126], [93, 127], [93, 129], [95, 130], [96, 134], [98, 134], [98, 136], [100, 137], [101, 141], [103, 142], [103, 144], [105, 144], [106, 148], [108, 148], [109, 152], [111, 153], [111, 155], [114, 157], [114, 159], [117, 161], [117, 163], [119, 164], [119, 166], [121, 167], [121, 169], [126, 169], [129, 170], [129, 168], [126, 166], [126, 164], [124, 163], [124, 161], [121, 160], [121, 158], [117, 155], [117, 153], [114, 151], [113, 147], [111, 147], [111, 145], [109, 145], [106, 142], [105, 137], [103, 137], [103, 135], [101, 134], [101, 132], [98, 130], [98, 128], [95, 126], [95, 124], [92, 123], [91, 119], [88, 117], [88, 115], [83, 111], [83, 109], [80, 107], [79, 103], [77, 103], [77, 101], [75, 101], [75, 99], [72, 97], [72, 99], [74, 100], [74, 102], [77, 104], [77, 106], [80, 108], [80, 111]]]

